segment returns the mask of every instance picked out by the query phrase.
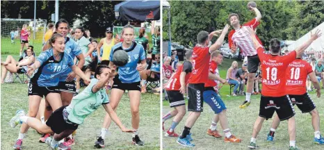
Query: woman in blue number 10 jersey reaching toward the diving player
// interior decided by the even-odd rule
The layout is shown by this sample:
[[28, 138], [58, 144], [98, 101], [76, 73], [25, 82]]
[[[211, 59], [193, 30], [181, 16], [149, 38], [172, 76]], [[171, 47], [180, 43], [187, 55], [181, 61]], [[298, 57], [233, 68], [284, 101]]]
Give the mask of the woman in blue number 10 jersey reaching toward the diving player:
[[[29, 114], [30, 117], [36, 117], [38, 108], [40, 106], [40, 100], [42, 97], [46, 97], [49, 105], [53, 110], [56, 110], [62, 106], [60, 94], [57, 89], [60, 74], [66, 67], [72, 68], [78, 76], [81, 76], [83, 80], [90, 82], [89, 78], [83, 74], [81, 69], [74, 65], [71, 56], [67, 55], [65, 49], [65, 39], [63, 35], [58, 33], [52, 35], [49, 40], [51, 49], [40, 53], [37, 60], [33, 65], [29, 66], [27, 73], [29, 75], [38, 69], [31, 82], [29, 83]], [[24, 138], [29, 126], [23, 124], [20, 128], [19, 137], [14, 145], [15, 149], [21, 149], [22, 139]]]

